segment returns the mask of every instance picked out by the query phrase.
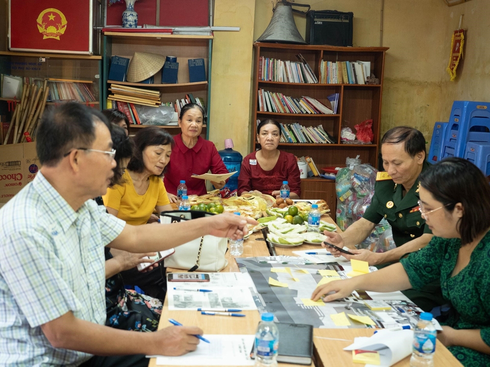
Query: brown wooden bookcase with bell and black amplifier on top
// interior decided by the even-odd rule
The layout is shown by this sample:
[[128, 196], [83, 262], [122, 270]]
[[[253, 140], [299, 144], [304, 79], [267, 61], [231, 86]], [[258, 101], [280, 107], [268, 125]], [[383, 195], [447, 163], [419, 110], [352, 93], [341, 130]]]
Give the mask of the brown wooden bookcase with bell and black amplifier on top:
[[[335, 139], [335, 144], [312, 143], [279, 143], [279, 149], [293, 153], [297, 157], [310, 156], [319, 170], [325, 166], [345, 166], [345, 158], [359, 155], [363, 163], [377, 166], [379, 151], [379, 134], [381, 122], [381, 95], [383, 91], [383, 70], [385, 52], [388, 47], [337, 47], [322, 45], [286, 45], [263, 42], [254, 43], [254, 79], [253, 79], [253, 119], [251, 150], [260, 149], [257, 142], [257, 120], [273, 118], [279, 123], [298, 122], [303, 126], [322, 125]], [[302, 84], [269, 82], [259, 80], [260, 57], [279, 59], [282, 61], [298, 61], [296, 56], [301, 53], [319, 78], [321, 61], [369, 61], [370, 72], [380, 80], [379, 85], [358, 84]], [[327, 96], [339, 93], [339, 107], [336, 115], [305, 115], [281, 114], [258, 111], [258, 91], [281, 92], [294, 98], [303, 95], [327, 101]], [[372, 144], [343, 144], [340, 139], [342, 127], [350, 127], [355, 133], [354, 125], [371, 119], [374, 134]], [[301, 179], [302, 199], [323, 199], [335, 213], [337, 198], [335, 182], [319, 177]], [[334, 214], [335, 215], [335, 214]]]

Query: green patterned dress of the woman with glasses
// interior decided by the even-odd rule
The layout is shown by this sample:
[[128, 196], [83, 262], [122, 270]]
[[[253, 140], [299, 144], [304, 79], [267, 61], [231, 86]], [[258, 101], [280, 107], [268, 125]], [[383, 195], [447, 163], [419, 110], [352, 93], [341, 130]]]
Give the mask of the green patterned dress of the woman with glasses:
[[[468, 265], [451, 277], [460, 247], [459, 238], [433, 237], [425, 248], [400, 262], [414, 289], [441, 279], [442, 296], [454, 309], [443, 325], [479, 329], [482, 340], [490, 345], [490, 232], [473, 250]], [[488, 354], [463, 346], [448, 349], [466, 367], [490, 366]]]

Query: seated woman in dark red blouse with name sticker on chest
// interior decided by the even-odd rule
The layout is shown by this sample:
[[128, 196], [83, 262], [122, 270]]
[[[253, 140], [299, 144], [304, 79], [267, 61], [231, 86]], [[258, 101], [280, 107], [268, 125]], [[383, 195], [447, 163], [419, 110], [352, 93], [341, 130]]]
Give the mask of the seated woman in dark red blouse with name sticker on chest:
[[266, 119], [257, 127], [257, 139], [262, 149], [244, 158], [238, 177], [238, 194], [258, 191], [280, 196], [283, 181], [288, 181], [291, 199], [299, 199], [301, 180], [296, 157], [277, 149], [281, 125], [276, 120]]

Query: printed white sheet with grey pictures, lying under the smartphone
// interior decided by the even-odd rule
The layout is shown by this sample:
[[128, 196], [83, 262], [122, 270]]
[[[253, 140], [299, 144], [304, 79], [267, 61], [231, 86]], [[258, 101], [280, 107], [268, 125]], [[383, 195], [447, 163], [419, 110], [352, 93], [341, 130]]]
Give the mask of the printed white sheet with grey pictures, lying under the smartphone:
[[[209, 282], [167, 282], [169, 310], [196, 310], [202, 308], [238, 308], [256, 310], [250, 289], [255, 287], [248, 274], [207, 273]], [[173, 288], [177, 289], [173, 289]], [[180, 289], [209, 289], [213, 292]], [[255, 292], [255, 291], [254, 291]]]

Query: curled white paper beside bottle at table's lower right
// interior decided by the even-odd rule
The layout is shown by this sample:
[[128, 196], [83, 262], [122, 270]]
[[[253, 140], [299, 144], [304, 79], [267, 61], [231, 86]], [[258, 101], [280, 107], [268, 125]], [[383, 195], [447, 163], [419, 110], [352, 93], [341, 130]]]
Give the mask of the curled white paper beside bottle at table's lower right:
[[369, 338], [355, 338], [354, 343], [346, 346], [343, 350], [377, 350], [381, 366], [392, 366], [412, 354], [413, 340], [413, 330], [380, 330]]

